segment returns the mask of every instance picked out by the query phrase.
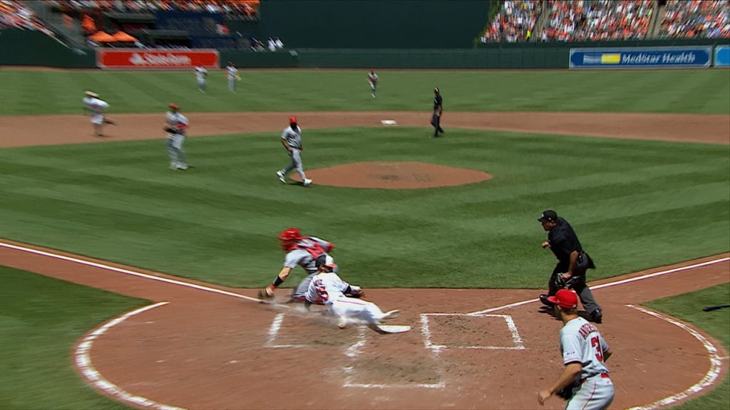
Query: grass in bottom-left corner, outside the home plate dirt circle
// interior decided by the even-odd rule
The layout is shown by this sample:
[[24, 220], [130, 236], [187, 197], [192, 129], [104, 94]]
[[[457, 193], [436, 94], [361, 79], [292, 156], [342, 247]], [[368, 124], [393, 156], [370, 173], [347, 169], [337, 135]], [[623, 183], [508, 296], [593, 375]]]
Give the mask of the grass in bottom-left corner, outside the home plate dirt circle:
[[147, 302], [0, 266], [0, 409], [128, 409], [72, 368], [88, 330]]

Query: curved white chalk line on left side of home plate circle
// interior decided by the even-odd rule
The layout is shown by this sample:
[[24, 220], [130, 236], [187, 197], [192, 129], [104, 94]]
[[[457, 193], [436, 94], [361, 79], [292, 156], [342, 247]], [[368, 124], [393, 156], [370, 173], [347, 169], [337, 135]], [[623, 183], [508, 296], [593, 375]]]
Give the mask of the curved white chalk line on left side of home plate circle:
[[155, 401], [151, 401], [148, 398], [144, 398], [138, 395], [133, 395], [130, 392], [127, 392], [126, 390], [123, 390], [121, 387], [117, 386], [116, 384], [110, 382], [107, 379], [104, 379], [104, 376], [101, 376], [99, 371], [96, 370], [96, 368], [93, 367], [93, 363], [91, 363], [91, 355], [89, 354], [89, 351], [91, 350], [91, 346], [93, 345], [93, 342], [96, 341], [96, 339], [99, 339], [104, 333], [107, 333], [107, 330], [110, 330], [111, 328], [115, 327], [116, 325], [119, 325], [121, 322], [124, 322], [125, 320], [129, 319], [130, 317], [133, 317], [134, 315], [147, 312], [148, 310], [155, 309], [159, 306], [166, 305], [167, 302], [160, 302], [155, 303], [150, 306], [144, 306], [139, 309], [135, 309], [131, 312], [127, 312], [119, 317], [116, 317], [115, 319], [110, 320], [109, 322], [104, 323], [104, 325], [101, 325], [96, 330], [93, 330], [91, 333], [88, 333], [82, 339], [82, 341], [77, 344], [76, 349], [74, 351], [74, 358], [76, 361], [76, 365], [79, 368], [79, 371], [81, 371], [81, 374], [89, 381], [91, 384], [93, 384], [94, 387], [97, 389], [106, 392], [108, 395], [111, 395], [113, 398], [116, 398], [120, 401], [125, 401], [127, 403], [131, 403], [135, 406], [142, 406], [147, 409], [155, 409], [155, 410], [184, 410], [181, 407], [175, 407], [175, 406], [169, 406], [167, 404], [157, 403]]

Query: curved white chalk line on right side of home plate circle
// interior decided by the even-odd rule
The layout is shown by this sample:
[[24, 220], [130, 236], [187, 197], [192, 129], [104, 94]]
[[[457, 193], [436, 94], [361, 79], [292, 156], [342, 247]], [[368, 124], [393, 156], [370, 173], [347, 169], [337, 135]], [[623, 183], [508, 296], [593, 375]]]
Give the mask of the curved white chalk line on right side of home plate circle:
[[718, 355], [718, 348], [715, 347], [715, 345], [712, 344], [711, 341], [709, 341], [706, 337], [702, 336], [699, 332], [697, 332], [693, 328], [690, 328], [688, 325], [685, 325], [684, 323], [674, 320], [670, 317], [666, 317], [662, 314], [658, 314], [657, 312], [653, 312], [653, 311], [650, 311], [649, 309], [644, 309], [639, 306], [634, 306], [634, 305], [626, 305], [626, 306], [631, 309], [637, 309], [638, 311], [644, 312], [645, 314], [650, 314], [653, 317], [658, 317], [661, 320], [672, 323], [672, 325], [675, 325], [675, 326], [685, 330], [686, 332], [688, 332], [692, 336], [694, 336], [695, 339], [699, 340], [702, 343], [702, 346], [704, 347], [704, 349], [707, 350], [707, 355], [710, 356], [710, 370], [707, 371], [707, 374], [704, 375], [702, 380], [693, 384], [691, 387], [689, 387], [687, 390], [685, 390], [683, 392], [679, 392], [675, 395], [671, 395], [669, 397], [661, 399], [660, 401], [655, 401], [654, 403], [647, 404], [645, 406], [631, 407], [629, 410], [659, 409], [661, 407], [669, 406], [672, 403], [675, 403], [677, 401], [688, 398], [689, 396], [694, 395], [698, 392], [701, 392], [702, 390], [706, 389], [707, 387], [712, 386], [712, 384], [718, 379], [718, 376], [720, 376], [720, 371], [721, 371], [721, 366], [722, 366], [722, 363], [721, 363], [722, 357], [720, 357], [720, 355]]

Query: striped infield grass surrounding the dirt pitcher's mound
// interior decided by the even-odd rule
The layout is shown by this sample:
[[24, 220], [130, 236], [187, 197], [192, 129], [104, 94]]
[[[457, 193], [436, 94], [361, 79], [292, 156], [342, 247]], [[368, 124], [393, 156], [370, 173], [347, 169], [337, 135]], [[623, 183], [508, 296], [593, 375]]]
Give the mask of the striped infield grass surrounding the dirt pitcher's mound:
[[[730, 158], [712, 144], [426, 128], [309, 131], [307, 169], [415, 160], [488, 171], [460, 187], [282, 185], [278, 133], [189, 139], [195, 168], [162, 141], [0, 150], [0, 236], [237, 287], [271, 281], [276, 235], [334, 241], [368, 287], [544, 287], [554, 257], [536, 218], [575, 226], [591, 279], [730, 250]], [[564, 147], [571, 147], [565, 150]], [[678, 155], [681, 152], [681, 156]], [[285, 285], [296, 285], [301, 270]]]

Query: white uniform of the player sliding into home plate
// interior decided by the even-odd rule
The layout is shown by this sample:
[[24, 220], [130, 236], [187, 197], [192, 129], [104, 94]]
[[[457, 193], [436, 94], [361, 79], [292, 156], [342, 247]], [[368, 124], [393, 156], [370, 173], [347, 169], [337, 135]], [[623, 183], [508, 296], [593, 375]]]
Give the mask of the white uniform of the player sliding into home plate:
[[380, 325], [385, 317], [375, 303], [345, 296], [350, 285], [334, 272], [320, 272], [307, 288], [305, 298], [311, 303], [321, 303], [330, 309], [338, 319], [361, 321], [368, 325]]

